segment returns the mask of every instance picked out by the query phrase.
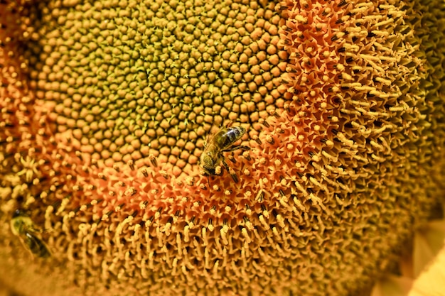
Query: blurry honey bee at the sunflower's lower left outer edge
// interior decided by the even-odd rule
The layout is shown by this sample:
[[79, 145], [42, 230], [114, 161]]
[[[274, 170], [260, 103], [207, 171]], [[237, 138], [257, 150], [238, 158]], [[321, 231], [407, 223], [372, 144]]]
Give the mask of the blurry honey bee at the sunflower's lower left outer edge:
[[45, 243], [38, 237], [38, 231], [33, 224], [31, 218], [23, 213], [20, 209], [16, 209], [11, 219], [11, 231], [15, 236], [18, 236], [28, 251], [33, 255], [41, 258], [50, 256], [50, 251]]

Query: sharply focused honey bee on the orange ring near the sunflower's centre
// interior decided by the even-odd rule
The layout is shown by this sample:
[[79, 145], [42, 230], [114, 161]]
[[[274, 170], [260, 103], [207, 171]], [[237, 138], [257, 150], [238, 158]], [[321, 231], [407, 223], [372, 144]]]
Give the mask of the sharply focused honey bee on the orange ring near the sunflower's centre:
[[[248, 146], [233, 146], [244, 134], [246, 129], [242, 126], [233, 126], [220, 128], [216, 133], [210, 133], [204, 146], [204, 151], [200, 156], [200, 166], [203, 169], [203, 175], [217, 175], [216, 168], [223, 163], [227, 172], [230, 172], [229, 165], [225, 162], [223, 153], [237, 149], [250, 150]], [[230, 173], [235, 183], [238, 177], [235, 173]], [[210, 183], [209, 183], [210, 186]]]

